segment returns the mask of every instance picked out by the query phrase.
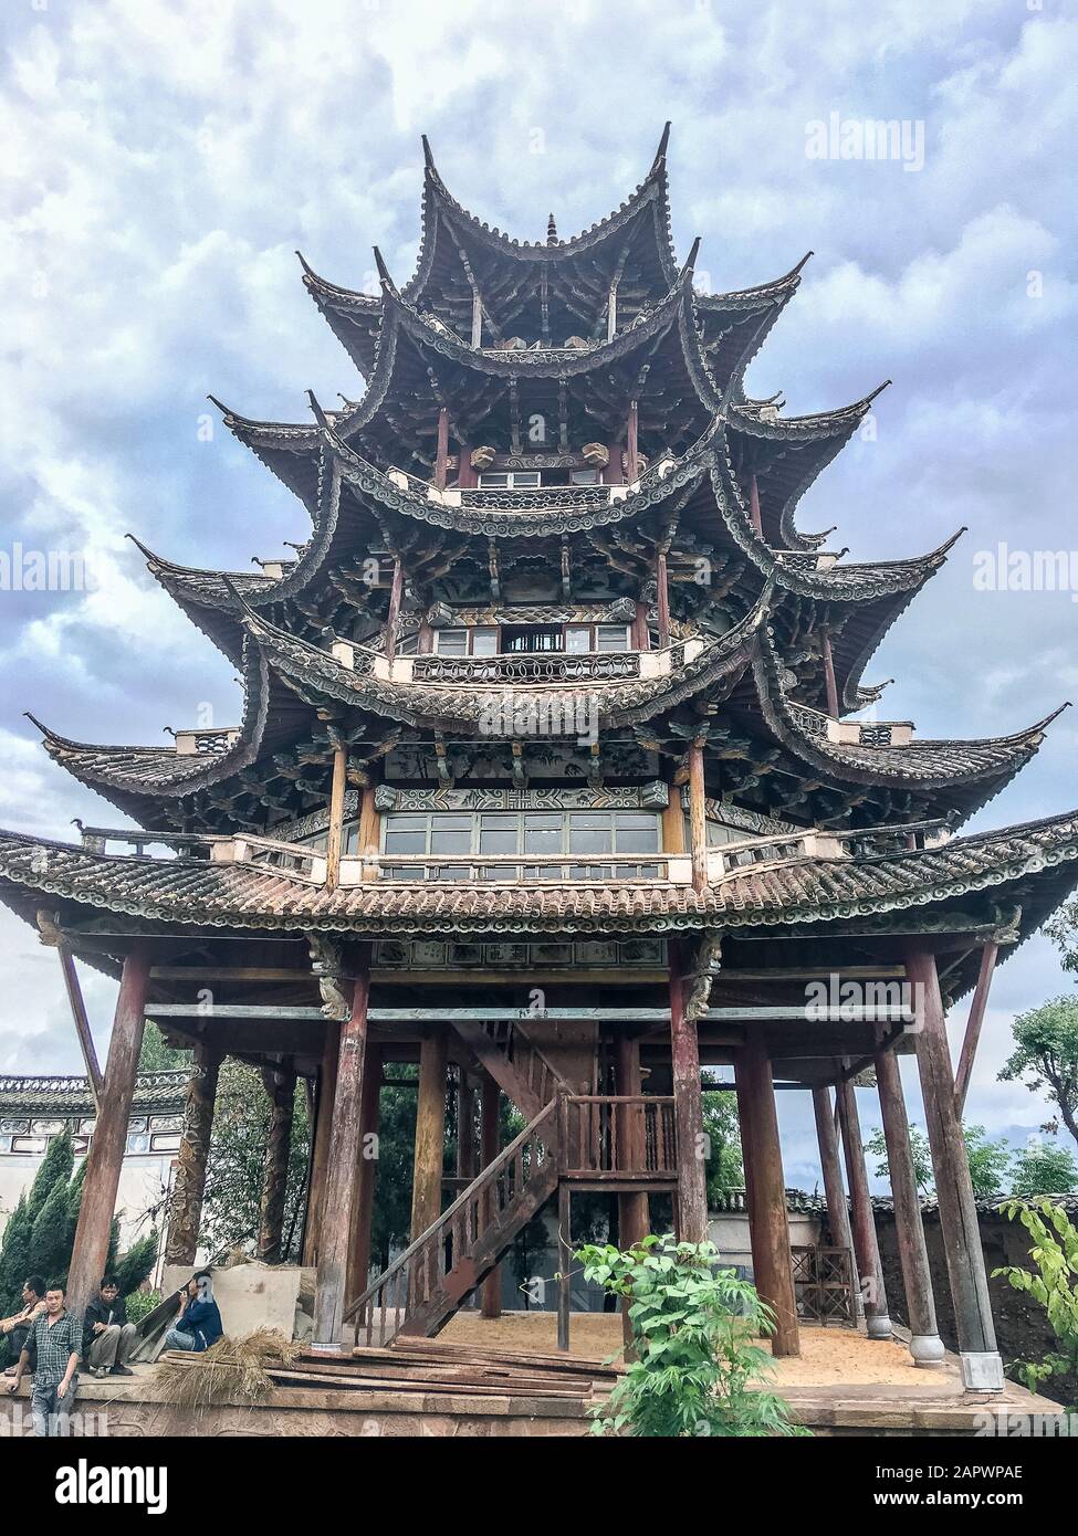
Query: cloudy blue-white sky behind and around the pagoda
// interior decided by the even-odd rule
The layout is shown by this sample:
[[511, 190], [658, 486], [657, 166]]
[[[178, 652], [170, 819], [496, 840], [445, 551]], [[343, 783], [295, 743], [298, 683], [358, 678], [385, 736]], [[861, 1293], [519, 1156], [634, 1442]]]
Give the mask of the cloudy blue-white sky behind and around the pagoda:
[[[672, 118], [675, 240], [703, 237], [701, 286], [815, 250], [750, 392], [801, 413], [895, 381], [801, 525], [883, 559], [970, 528], [869, 671], [897, 679], [883, 713], [990, 736], [1078, 699], [1072, 593], [973, 585], [978, 551], [1073, 544], [1078, 18], [1056, 0], [6, 0], [0, 35], [0, 547], [82, 550], [97, 578], [0, 591], [0, 825], [117, 822], [23, 710], [138, 743], [237, 716], [231, 668], [125, 535], [223, 568], [303, 538], [284, 488], [208, 435], [205, 396], [300, 421], [308, 387], [357, 392], [294, 250], [364, 287], [377, 243], [403, 283], [421, 132], [467, 207], [537, 240], [549, 210], [563, 235], [611, 212]], [[904, 123], [913, 152], [820, 158], [832, 114]], [[1078, 803], [1076, 740], [1072, 711], [973, 825]], [[6, 912], [0, 946], [0, 1071], [78, 1071], [55, 957]], [[970, 1117], [1016, 1144], [1046, 1107], [995, 1081], [1009, 1023], [1070, 985], [1043, 940], [996, 975]], [[105, 1051], [112, 989], [86, 989]], [[810, 1187], [800, 1098], [781, 1095], [787, 1181]]]

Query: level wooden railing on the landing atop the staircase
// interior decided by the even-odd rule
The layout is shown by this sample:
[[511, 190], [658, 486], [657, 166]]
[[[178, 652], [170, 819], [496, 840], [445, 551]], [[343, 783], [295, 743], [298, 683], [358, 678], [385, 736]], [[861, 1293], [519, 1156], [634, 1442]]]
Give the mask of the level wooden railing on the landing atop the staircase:
[[674, 1098], [658, 1094], [563, 1094], [564, 1178], [595, 1183], [677, 1178]]

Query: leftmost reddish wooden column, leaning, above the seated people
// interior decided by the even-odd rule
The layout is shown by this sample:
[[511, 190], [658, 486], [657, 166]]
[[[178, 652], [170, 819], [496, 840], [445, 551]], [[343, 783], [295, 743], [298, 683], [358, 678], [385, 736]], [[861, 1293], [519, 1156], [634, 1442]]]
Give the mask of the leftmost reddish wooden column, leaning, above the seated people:
[[101, 1083], [101, 1107], [86, 1158], [86, 1183], [68, 1270], [68, 1310], [75, 1315], [82, 1315], [91, 1296], [97, 1295], [109, 1253], [149, 994], [149, 965], [146, 943], [135, 943], [123, 962]]

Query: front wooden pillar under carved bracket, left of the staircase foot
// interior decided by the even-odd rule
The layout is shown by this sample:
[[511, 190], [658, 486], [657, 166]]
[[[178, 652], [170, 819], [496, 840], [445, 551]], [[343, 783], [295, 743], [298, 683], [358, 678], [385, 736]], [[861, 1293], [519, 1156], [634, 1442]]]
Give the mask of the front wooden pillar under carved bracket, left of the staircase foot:
[[344, 1287], [352, 1236], [355, 1164], [360, 1155], [360, 1098], [368, 1043], [369, 962], [364, 955], [352, 986], [352, 1011], [340, 1026], [337, 1084], [329, 1132], [326, 1204], [321, 1215], [318, 1281], [314, 1298], [311, 1350], [318, 1355], [348, 1353], [340, 1335], [344, 1319]]

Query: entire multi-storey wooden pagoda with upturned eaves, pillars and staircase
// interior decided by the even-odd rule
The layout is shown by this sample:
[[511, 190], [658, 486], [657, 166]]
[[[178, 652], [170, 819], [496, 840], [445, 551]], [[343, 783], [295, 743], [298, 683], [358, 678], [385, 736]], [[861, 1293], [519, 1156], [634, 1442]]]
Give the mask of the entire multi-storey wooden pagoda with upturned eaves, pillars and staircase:
[[[466, 212], [424, 140], [408, 283], [378, 252], [374, 296], [301, 258], [364, 387], [311, 396], [298, 424], [221, 407], [295, 495], [298, 542], [234, 573], [138, 545], [235, 665], [237, 723], [168, 746], [42, 727], [128, 819], [80, 845], [0, 833], [0, 895], [58, 948], [77, 1020], [75, 958], [120, 978], [75, 1307], [105, 1263], [149, 1017], [195, 1063], [177, 1263], [195, 1256], [223, 1057], [261, 1068], [274, 1106], [271, 1260], [306, 1080], [320, 1352], [434, 1335], [474, 1292], [495, 1312], [498, 1261], [547, 1201], [569, 1241], [575, 1190], [617, 1200], [623, 1244], [670, 1220], [703, 1240], [712, 1068], [732, 1068], [775, 1353], [797, 1353], [801, 1303], [777, 1087], [812, 1094], [829, 1263], [849, 1261], [850, 1316], [886, 1336], [853, 1095], [870, 1074], [930, 1366], [897, 1060], [913, 1054], [964, 1381], [1001, 1385], [961, 1104], [996, 955], [1078, 882], [1078, 813], [961, 834], [1049, 720], [935, 740], [878, 717], [866, 670], [957, 535], [857, 562], [801, 530], [878, 390], [809, 416], [746, 393], [804, 261], [698, 292], [698, 241], [678, 261], [670, 238], [667, 137], [617, 212], [571, 240], [551, 217], [535, 243]], [[966, 992], [955, 1072], [946, 1009]], [[412, 1243], [372, 1275], [366, 1147], [395, 1063], [418, 1063]], [[507, 1146], [503, 1095], [524, 1121]]]

